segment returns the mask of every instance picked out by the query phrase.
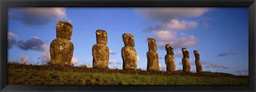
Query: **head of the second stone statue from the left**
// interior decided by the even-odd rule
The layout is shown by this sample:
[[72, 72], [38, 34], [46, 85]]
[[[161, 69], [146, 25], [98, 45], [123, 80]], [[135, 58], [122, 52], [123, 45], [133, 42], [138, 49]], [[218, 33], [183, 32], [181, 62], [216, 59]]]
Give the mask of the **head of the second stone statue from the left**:
[[105, 30], [97, 30], [96, 31], [96, 39], [97, 39], [97, 43], [107, 44], [107, 42], [108, 42], [107, 32]]

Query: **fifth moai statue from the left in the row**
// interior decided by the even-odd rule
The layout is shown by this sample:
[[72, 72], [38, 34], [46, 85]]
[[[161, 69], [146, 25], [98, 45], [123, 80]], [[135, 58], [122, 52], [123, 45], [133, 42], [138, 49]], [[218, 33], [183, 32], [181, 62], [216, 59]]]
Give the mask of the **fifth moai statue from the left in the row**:
[[171, 44], [166, 44], [165, 49], [167, 54], [164, 57], [165, 64], [166, 64], [166, 70], [167, 71], [175, 71], [175, 59], [173, 57], [174, 52]]

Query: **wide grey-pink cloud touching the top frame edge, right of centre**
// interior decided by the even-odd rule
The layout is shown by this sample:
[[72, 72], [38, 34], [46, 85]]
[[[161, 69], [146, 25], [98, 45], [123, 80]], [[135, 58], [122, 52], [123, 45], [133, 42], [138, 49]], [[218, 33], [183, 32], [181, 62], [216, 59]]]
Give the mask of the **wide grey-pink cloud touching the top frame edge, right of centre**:
[[149, 20], [166, 21], [202, 16], [209, 7], [152, 7], [136, 8], [139, 15]]

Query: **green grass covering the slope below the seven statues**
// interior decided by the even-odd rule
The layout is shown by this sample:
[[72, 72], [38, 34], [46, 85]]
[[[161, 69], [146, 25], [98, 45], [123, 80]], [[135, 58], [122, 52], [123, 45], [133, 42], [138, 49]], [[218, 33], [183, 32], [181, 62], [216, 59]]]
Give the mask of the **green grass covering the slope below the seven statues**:
[[25, 85], [248, 85], [249, 77], [206, 72], [219, 77], [132, 75], [73, 71], [27, 70], [9, 67], [8, 84]]

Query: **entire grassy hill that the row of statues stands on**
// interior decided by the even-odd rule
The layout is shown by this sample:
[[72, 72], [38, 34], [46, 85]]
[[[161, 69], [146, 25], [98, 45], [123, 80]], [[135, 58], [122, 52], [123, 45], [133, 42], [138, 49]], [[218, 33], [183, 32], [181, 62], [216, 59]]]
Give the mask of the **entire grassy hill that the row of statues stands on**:
[[8, 64], [7, 83], [25, 85], [248, 85], [248, 76]]

